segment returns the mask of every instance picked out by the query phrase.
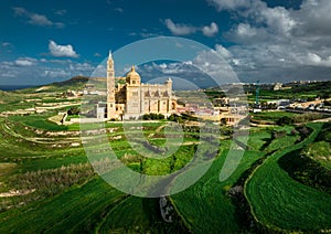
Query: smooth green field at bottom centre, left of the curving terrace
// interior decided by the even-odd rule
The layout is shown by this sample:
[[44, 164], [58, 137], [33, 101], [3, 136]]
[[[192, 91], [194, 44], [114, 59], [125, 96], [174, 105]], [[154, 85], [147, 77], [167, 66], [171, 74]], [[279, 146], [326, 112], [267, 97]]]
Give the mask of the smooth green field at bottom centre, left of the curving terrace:
[[236, 206], [226, 195], [241, 174], [256, 160], [260, 152], [245, 152], [238, 168], [225, 181], [221, 182], [220, 171], [227, 156], [227, 150], [213, 162], [210, 170], [192, 187], [171, 196], [177, 211], [193, 233], [238, 233]]

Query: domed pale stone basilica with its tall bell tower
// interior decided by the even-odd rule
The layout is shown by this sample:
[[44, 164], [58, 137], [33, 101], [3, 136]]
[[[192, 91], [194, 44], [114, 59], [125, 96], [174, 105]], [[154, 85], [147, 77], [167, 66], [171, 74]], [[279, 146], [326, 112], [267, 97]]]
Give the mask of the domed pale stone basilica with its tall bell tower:
[[97, 118], [138, 119], [146, 114], [162, 114], [167, 117], [177, 109], [171, 78], [164, 84], [142, 84], [135, 66], [126, 77], [115, 78], [111, 53], [107, 61], [106, 79], [107, 100], [105, 104], [98, 104]]

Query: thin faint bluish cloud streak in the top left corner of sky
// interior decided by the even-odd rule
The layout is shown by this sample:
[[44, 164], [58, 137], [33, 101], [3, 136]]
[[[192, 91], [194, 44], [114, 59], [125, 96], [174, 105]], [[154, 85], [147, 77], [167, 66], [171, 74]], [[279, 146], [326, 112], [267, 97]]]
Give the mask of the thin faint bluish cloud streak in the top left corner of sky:
[[52, 22], [46, 15], [30, 12], [24, 8], [12, 8], [14, 15], [28, 18], [28, 23], [39, 26], [56, 26], [63, 28], [64, 24], [61, 22]]

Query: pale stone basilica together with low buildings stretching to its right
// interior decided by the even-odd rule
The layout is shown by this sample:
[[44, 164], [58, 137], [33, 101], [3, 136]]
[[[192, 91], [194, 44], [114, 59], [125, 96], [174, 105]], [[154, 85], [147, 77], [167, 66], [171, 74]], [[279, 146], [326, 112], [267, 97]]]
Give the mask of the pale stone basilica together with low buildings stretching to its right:
[[93, 88], [88, 91], [88, 87], [84, 91], [89, 94], [106, 96], [106, 102], [98, 102], [95, 106], [95, 116], [98, 119], [126, 120], [139, 119], [149, 114], [162, 114], [166, 117], [171, 114], [190, 114], [191, 116], [214, 121], [224, 120], [228, 125], [234, 125], [243, 118], [242, 115], [238, 115], [237, 108], [226, 105], [229, 103], [228, 98], [222, 98], [220, 100], [222, 105], [216, 107], [190, 103], [179, 105], [173, 95], [171, 78], [163, 84], [143, 84], [135, 66], [125, 77], [115, 77], [111, 53], [107, 60], [107, 76], [98, 79], [106, 81], [106, 91]]

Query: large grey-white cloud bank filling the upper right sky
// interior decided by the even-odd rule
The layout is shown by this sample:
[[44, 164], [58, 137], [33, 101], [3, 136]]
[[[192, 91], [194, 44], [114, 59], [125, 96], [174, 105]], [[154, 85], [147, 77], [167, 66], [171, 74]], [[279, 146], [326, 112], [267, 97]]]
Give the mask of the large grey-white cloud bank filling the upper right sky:
[[223, 36], [236, 43], [226, 50], [243, 81], [330, 79], [330, 0], [302, 0], [297, 9], [271, 8], [261, 0], [206, 1], [238, 22]]

